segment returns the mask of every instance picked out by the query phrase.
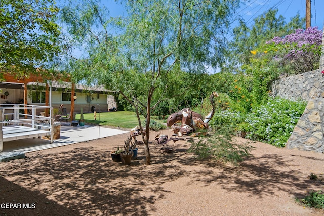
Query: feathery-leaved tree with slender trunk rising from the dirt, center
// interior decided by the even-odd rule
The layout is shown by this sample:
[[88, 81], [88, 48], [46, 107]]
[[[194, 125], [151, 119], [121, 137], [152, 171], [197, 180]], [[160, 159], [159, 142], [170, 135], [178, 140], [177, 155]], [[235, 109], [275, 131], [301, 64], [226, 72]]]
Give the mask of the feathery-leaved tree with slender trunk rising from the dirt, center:
[[189, 90], [178, 76], [181, 70], [206, 72], [206, 65], [216, 67], [222, 62], [223, 35], [240, 1], [121, 2], [127, 16], [116, 19], [92, 0], [71, 3], [62, 11], [69, 33], [65, 39], [87, 51], [81, 57], [68, 53], [78, 60], [75, 71], [80, 77], [119, 92], [135, 107], [138, 119], [140, 114], [145, 116], [145, 125], [139, 119], [139, 126], [146, 131], [142, 138], [146, 164], [150, 164], [152, 109]]

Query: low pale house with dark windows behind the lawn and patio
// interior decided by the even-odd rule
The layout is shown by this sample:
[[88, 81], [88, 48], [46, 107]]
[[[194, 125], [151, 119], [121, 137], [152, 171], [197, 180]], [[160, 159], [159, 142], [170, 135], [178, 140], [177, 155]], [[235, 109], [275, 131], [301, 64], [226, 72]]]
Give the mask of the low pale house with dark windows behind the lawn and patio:
[[[87, 87], [82, 84], [74, 85], [74, 95], [72, 96], [70, 82], [52, 82], [49, 86], [49, 104], [53, 108], [59, 108], [63, 104], [64, 110], [71, 111], [71, 101], [74, 100], [74, 112], [91, 113], [107, 112], [115, 108], [116, 102], [112, 91], [102, 87]], [[24, 103], [24, 83], [0, 82], [0, 104], [23, 104]], [[109, 105], [108, 105], [109, 102]], [[46, 84], [42, 82], [27, 83], [27, 104], [46, 105]]]

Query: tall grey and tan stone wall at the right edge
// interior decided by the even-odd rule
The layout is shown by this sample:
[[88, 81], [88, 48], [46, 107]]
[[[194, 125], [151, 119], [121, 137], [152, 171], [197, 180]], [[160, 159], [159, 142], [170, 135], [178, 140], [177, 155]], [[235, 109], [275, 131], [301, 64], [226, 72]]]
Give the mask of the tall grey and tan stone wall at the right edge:
[[286, 148], [324, 152], [324, 77], [314, 70], [277, 80], [272, 85], [272, 96], [307, 100], [307, 106]]

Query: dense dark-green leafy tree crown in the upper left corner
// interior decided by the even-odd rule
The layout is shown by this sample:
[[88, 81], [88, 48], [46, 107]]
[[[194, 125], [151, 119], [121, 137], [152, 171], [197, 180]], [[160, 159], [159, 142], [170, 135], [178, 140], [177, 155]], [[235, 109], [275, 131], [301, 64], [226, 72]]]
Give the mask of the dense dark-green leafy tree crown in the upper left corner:
[[59, 54], [58, 11], [54, 0], [0, 1], [0, 70], [28, 76]]

